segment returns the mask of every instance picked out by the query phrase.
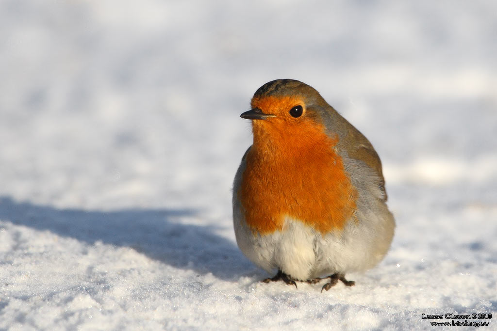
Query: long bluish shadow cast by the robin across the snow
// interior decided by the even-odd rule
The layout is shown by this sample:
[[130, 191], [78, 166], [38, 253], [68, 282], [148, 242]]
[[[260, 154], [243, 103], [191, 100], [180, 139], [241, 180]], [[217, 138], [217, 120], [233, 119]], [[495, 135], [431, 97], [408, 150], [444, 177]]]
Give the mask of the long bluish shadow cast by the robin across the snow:
[[178, 268], [236, 280], [253, 266], [232, 241], [213, 226], [181, 224], [192, 209], [123, 209], [87, 211], [16, 202], [0, 197], [0, 220], [72, 237], [88, 244], [131, 247]]

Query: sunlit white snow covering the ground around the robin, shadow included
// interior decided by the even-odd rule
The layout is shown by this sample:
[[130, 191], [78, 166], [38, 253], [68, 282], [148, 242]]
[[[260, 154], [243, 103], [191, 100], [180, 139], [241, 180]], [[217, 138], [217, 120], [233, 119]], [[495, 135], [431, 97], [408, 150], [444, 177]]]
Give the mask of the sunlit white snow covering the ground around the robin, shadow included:
[[[1, 1], [0, 330], [496, 330], [496, 35], [491, 0]], [[275, 78], [382, 157], [397, 232], [352, 288], [261, 284], [235, 243]]]

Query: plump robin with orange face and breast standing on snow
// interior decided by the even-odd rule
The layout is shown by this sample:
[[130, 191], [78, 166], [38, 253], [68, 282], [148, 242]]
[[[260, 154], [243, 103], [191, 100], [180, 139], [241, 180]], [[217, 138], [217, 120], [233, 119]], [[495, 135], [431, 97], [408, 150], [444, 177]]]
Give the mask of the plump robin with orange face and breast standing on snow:
[[370, 141], [313, 87], [276, 79], [251, 109], [253, 143], [233, 183], [237, 244], [255, 265], [328, 291], [380, 263], [394, 236], [380, 158]]

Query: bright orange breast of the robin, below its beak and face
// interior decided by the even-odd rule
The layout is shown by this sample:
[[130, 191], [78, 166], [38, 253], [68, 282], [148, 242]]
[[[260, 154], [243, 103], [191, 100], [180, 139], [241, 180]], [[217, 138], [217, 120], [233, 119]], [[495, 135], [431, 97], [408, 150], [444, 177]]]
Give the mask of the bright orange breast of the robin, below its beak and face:
[[340, 229], [354, 214], [357, 192], [334, 150], [338, 138], [321, 125], [254, 121], [254, 143], [246, 156], [238, 197], [254, 233], [281, 230], [285, 216], [322, 234]]

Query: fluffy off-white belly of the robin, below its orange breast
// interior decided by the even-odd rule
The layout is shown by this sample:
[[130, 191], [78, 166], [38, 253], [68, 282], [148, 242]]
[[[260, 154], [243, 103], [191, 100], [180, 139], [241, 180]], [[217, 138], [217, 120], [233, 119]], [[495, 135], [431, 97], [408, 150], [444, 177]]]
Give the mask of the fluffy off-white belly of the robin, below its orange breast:
[[301, 221], [288, 218], [281, 231], [264, 236], [254, 235], [242, 222], [235, 222], [239, 224], [235, 226], [235, 234], [245, 256], [269, 273], [281, 269], [300, 280], [366, 270], [383, 259], [389, 246], [378, 247], [383, 245], [374, 240], [375, 231], [354, 221], [341, 233], [325, 236]]

